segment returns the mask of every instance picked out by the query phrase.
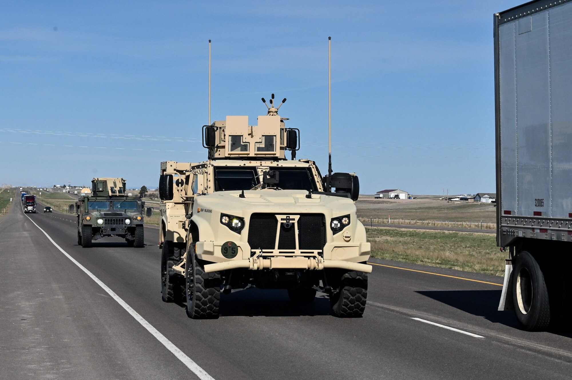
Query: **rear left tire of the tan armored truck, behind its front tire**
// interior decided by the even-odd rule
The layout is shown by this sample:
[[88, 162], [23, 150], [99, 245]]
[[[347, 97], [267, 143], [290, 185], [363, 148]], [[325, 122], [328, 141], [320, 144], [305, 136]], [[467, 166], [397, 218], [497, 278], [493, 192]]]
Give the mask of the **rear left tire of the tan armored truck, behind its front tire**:
[[173, 265], [181, 261], [184, 253], [185, 250], [182, 245], [174, 244], [169, 240], [163, 242], [163, 249], [161, 250], [161, 299], [164, 302], [181, 302], [185, 299], [185, 279], [172, 270]]

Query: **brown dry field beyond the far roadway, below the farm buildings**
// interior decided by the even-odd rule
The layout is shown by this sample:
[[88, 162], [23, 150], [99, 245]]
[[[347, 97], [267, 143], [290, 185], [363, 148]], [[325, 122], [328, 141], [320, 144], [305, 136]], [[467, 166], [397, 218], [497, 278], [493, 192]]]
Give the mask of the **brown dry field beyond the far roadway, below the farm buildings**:
[[[488, 203], [449, 202], [438, 196], [419, 196], [418, 199], [374, 199], [360, 195], [356, 202], [358, 218], [397, 219], [443, 222], [495, 223], [496, 208]], [[393, 222], [392, 222], [393, 223]]]

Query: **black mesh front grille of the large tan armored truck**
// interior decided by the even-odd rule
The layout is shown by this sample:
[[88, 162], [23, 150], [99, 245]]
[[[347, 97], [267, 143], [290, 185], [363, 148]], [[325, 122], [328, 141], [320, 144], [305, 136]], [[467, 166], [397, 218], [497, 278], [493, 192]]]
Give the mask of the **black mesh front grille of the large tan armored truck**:
[[[248, 244], [252, 249], [274, 249], [278, 220], [274, 214], [254, 213], [248, 227]], [[325, 217], [323, 214], [301, 214], [297, 221], [298, 246], [301, 250], [323, 250]], [[278, 249], [296, 249], [294, 227], [280, 226]]]

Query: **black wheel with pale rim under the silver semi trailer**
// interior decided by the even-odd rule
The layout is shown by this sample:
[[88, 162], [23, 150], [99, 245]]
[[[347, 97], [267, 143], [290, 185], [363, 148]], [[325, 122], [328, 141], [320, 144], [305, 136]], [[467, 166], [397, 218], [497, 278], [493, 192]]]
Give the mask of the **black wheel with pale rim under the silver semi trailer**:
[[550, 325], [550, 302], [541, 267], [526, 250], [515, 261], [512, 291], [517, 319], [526, 330], [545, 330]]

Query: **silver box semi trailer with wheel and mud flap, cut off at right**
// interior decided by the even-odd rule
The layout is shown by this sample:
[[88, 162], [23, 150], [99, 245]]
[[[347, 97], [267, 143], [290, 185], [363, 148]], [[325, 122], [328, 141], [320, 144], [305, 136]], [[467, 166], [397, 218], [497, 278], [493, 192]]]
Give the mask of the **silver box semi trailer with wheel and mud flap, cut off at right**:
[[508, 254], [499, 310], [526, 330], [572, 312], [572, 1], [494, 15], [496, 242]]

